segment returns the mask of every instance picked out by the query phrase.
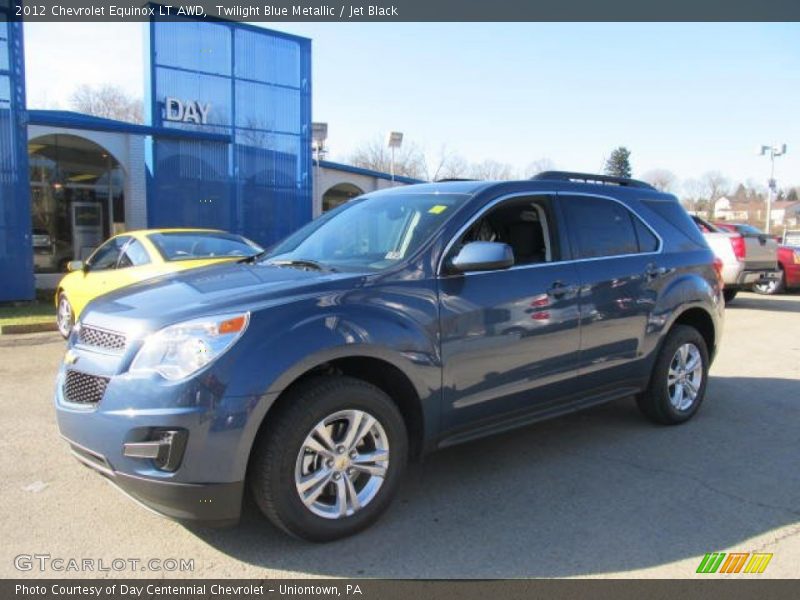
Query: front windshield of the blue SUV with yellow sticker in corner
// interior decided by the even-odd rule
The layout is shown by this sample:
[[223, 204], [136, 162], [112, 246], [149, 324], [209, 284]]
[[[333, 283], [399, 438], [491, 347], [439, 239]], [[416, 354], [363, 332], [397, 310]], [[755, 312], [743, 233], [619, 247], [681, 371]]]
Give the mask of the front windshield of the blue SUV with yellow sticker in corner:
[[377, 194], [351, 200], [286, 238], [268, 262], [379, 270], [414, 254], [468, 194]]

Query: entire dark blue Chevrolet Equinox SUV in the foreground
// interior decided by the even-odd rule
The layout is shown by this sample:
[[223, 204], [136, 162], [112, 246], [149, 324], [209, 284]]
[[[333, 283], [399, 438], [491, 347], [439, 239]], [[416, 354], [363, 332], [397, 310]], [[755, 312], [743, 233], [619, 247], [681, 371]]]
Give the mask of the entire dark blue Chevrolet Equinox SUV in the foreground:
[[691, 418], [721, 288], [675, 197], [635, 180], [393, 188], [261, 256], [92, 302], [58, 424], [164, 515], [235, 523], [248, 489], [281, 529], [332, 540], [437, 448], [626, 396]]

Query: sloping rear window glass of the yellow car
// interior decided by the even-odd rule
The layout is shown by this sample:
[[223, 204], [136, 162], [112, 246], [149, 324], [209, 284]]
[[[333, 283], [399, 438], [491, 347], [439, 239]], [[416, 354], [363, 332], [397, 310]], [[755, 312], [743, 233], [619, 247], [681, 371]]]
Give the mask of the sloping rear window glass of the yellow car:
[[261, 248], [250, 240], [222, 231], [165, 231], [148, 235], [166, 261], [252, 256]]

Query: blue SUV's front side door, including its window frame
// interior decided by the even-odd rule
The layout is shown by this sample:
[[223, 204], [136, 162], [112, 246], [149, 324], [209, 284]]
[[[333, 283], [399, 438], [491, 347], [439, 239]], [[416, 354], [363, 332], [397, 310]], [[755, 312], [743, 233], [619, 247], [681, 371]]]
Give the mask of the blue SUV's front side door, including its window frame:
[[515, 411], [546, 410], [574, 390], [577, 268], [560, 261], [550, 202], [503, 203], [454, 244], [457, 251], [474, 240], [508, 243], [515, 266], [440, 279], [446, 433]]

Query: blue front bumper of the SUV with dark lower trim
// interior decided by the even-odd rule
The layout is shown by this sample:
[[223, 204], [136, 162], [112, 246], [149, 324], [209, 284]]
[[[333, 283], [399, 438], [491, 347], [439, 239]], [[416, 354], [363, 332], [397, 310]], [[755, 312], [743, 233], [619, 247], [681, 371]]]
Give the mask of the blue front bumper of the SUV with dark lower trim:
[[[100, 359], [88, 369], [102, 372]], [[198, 378], [180, 384], [103, 373], [102, 399], [79, 405], [65, 398], [68, 369], [89, 366], [87, 354], [64, 366], [56, 382], [58, 427], [72, 454], [123, 493], [166, 517], [210, 526], [235, 524], [241, 513], [249, 444], [258, 398], [227, 397]], [[188, 433], [176, 465], [144, 456], [164, 430]], [[135, 448], [139, 451], [131, 451]], [[143, 451], [144, 449], [144, 451]]]

